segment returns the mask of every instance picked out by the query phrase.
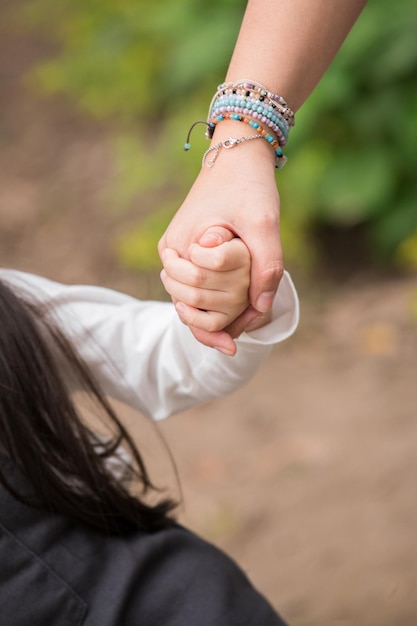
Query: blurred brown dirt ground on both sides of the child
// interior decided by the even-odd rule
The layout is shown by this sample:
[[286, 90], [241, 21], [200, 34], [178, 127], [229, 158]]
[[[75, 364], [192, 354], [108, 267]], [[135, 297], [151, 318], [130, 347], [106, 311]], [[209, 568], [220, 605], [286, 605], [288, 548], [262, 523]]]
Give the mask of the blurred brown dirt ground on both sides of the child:
[[[29, 94], [38, 51], [1, 33], [0, 263], [156, 297], [112, 257], [135, 214], [109, 210], [111, 131]], [[293, 626], [415, 626], [416, 277], [302, 281], [300, 296], [297, 335], [244, 389], [160, 425], [181, 519]], [[155, 433], [126, 419], [178, 495]]]

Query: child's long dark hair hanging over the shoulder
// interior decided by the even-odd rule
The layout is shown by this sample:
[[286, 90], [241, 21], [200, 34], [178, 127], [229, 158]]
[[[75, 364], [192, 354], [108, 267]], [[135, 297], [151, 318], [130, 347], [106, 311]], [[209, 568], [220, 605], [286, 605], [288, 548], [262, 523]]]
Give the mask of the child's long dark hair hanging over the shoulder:
[[[104, 443], [77, 410], [68, 379], [76, 379], [107, 418], [115, 434]], [[154, 486], [143, 459], [88, 367], [41, 307], [0, 281], [0, 451], [36, 499], [17, 492], [0, 470], [2, 485], [26, 504], [106, 533], [171, 525], [174, 502], [147, 504], [110, 470], [119, 446], [145, 495]]]

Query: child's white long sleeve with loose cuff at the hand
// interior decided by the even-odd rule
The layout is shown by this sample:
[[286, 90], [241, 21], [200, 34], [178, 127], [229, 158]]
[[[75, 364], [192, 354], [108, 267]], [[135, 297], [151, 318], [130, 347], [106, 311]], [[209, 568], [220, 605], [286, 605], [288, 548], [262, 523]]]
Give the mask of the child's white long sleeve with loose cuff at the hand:
[[0, 270], [0, 278], [48, 306], [106, 394], [154, 419], [230, 393], [298, 323], [297, 294], [288, 274], [275, 299], [273, 321], [244, 333], [234, 357], [196, 341], [170, 303], [62, 285], [14, 270]]

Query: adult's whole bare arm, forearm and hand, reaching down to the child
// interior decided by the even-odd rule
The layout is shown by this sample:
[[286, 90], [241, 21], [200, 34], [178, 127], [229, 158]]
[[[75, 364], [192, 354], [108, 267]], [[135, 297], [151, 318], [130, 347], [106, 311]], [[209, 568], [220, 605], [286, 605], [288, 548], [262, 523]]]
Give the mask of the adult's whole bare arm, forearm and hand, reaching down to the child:
[[[325, 73], [365, 4], [366, 0], [249, 0], [226, 81], [246, 79], [261, 83], [270, 92], [283, 96], [296, 111]], [[251, 94], [248, 97], [249, 108], [253, 109]], [[225, 112], [223, 106], [226, 115], [213, 121], [212, 149], [224, 147], [229, 138], [245, 138], [245, 142], [232, 150], [220, 150], [215, 167], [201, 169], [162, 237], [159, 250], [161, 253], [170, 247], [188, 258], [190, 244], [198, 241], [207, 228], [227, 227], [250, 251], [250, 302], [257, 311], [266, 313], [271, 309], [283, 272], [274, 167], [276, 157], [282, 154], [285, 136], [283, 140], [277, 132], [282, 131], [279, 120], [275, 120], [275, 128], [273, 124], [259, 128], [254, 125], [259, 111], [251, 115], [245, 107], [242, 112], [240, 106], [226, 103], [218, 106], [220, 113]], [[227, 107], [231, 106], [238, 109], [234, 111], [237, 118], [229, 115]], [[241, 113], [249, 119], [243, 115], [241, 119]], [[274, 138], [266, 136], [270, 128], [276, 132], [275, 146]], [[256, 134], [265, 136], [267, 141], [248, 140], [248, 136]], [[229, 327], [232, 336], [245, 328], [239, 325], [245, 321], [238, 319], [235, 326]], [[219, 348], [218, 335], [203, 343]], [[230, 337], [230, 343], [229, 340]]]

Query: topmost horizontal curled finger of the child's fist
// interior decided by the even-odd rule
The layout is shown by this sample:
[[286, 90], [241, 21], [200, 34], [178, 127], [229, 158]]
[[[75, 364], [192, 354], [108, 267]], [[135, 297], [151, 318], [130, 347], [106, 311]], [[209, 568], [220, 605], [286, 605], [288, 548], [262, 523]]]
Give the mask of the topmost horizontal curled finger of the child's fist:
[[194, 243], [190, 246], [189, 254], [195, 265], [216, 272], [228, 272], [238, 268], [248, 270], [250, 267], [249, 250], [237, 237], [213, 248]]

